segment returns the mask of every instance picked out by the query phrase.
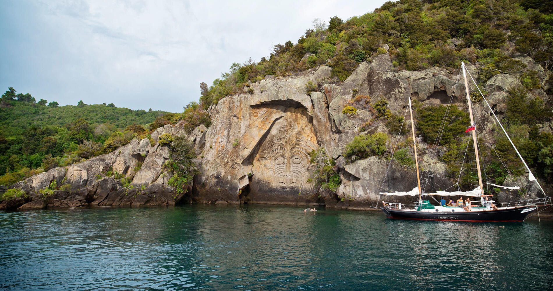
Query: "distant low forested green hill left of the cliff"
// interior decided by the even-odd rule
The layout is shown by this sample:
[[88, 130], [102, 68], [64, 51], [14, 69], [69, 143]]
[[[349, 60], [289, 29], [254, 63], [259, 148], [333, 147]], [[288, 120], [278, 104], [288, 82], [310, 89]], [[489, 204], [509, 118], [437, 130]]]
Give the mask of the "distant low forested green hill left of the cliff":
[[[10, 87], [0, 104], [0, 184], [105, 153], [147, 134], [168, 112], [109, 105], [35, 103]], [[158, 123], [154, 121], [158, 118]], [[8, 174], [7, 174], [8, 173]]]

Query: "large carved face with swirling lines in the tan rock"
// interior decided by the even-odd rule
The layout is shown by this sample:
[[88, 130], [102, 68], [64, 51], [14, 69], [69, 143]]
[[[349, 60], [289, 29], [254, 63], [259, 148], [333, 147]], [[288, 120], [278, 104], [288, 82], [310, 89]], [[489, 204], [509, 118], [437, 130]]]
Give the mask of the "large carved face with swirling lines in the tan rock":
[[299, 189], [309, 178], [311, 142], [291, 122], [269, 136], [255, 159], [258, 178], [281, 190]]

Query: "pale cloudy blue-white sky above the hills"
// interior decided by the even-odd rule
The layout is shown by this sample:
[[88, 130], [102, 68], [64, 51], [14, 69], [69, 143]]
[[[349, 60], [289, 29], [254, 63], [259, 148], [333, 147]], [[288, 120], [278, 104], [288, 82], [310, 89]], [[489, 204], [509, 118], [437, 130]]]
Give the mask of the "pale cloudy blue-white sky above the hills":
[[0, 1], [0, 91], [181, 112], [232, 63], [385, 1]]

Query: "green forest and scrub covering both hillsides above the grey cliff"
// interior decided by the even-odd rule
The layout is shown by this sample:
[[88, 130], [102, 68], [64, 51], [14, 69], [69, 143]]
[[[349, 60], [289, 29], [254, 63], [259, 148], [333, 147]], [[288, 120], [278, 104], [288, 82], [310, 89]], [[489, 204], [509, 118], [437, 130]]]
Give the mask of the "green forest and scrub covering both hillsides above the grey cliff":
[[[457, 74], [461, 61], [465, 61], [474, 66], [481, 87], [500, 74], [520, 81], [520, 87], [508, 92], [502, 118], [531, 167], [551, 182], [553, 136], [547, 124], [552, 116], [552, 12], [551, 1], [401, 0], [349, 19], [315, 19], [314, 27], [296, 43], [290, 40], [277, 44], [267, 58], [258, 62], [250, 59], [243, 64], [233, 63], [211, 86], [202, 82], [200, 101], [185, 106], [182, 113], [163, 115], [82, 102], [64, 107], [50, 102], [46, 106], [45, 100], [35, 103], [29, 94], [16, 95], [9, 89], [0, 105], [0, 174], [6, 174], [0, 184], [22, 179], [32, 174], [32, 169], [48, 170], [53, 165], [76, 163], [108, 152], [133, 136], [148, 137], [150, 131], [164, 124], [184, 120], [187, 132], [199, 124], [208, 127], [208, 108], [228, 95], [253, 94], [252, 84], [265, 76], [289, 76], [321, 65], [331, 67], [329, 78], [306, 84], [309, 94], [319, 91], [322, 84], [340, 85], [359, 64], [372, 63], [382, 54], [390, 56], [395, 72], [438, 67]], [[533, 66], [521, 61], [527, 56]], [[354, 93], [353, 97], [348, 107], [385, 113], [366, 124], [380, 122], [391, 130], [401, 121], [398, 112], [387, 113], [386, 101], [378, 96]], [[439, 124], [444, 111], [444, 106], [420, 106], [416, 118], [426, 124]], [[451, 130], [446, 134], [455, 137], [457, 132]], [[431, 131], [419, 128], [419, 134], [428, 142], [433, 138]], [[514, 158], [504, 139], [496, 137], [495, 142], [506, 157]], [[451, 173], [456, 172], [466, 142], [449, 138], [440, 146], [445, 153], [439, 157], [441, 162]], [[486, 167], [497, 183], [505, 178], [497, 164], [490, 162]]]

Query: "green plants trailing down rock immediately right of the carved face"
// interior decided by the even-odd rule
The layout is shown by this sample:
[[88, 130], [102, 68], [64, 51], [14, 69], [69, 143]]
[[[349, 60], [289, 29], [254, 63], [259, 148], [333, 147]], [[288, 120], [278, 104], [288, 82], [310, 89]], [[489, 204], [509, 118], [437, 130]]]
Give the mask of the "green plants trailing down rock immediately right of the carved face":
[[309, 153], [310, 163], [315, 164], [316, 168], [311, 178], [307, 181], [315, 183], [318, 187], [324, 190], [330, 190], [335, 193], [341, 184], [340, 175], [336, 172], [336, 162], [331, 157], [328, 157], [324, 147], [319, 147]]

